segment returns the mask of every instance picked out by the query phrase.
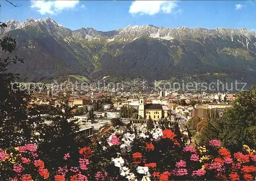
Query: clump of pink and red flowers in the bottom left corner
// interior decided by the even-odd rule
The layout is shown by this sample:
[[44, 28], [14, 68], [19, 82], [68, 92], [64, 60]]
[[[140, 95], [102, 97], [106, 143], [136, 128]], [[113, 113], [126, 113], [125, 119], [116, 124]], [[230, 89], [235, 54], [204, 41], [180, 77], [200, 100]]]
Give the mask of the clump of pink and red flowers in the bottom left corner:
[[37, 160], [37, 147], [27, 144], [14, 150], [0, 149], [1, 180], [44, 180], [49, 178], [45, 163]]

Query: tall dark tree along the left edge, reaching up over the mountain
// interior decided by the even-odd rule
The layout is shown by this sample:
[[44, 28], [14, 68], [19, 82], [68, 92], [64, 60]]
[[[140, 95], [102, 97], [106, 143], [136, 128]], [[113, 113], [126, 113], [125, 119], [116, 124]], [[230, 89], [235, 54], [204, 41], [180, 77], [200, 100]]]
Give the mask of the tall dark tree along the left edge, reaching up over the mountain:
[[[0, 22], [0, 28], [6, 24]], [[10, 37], [0, 39], [0, 50], [2, 53], [12, 53], [16, 49], [16, 41]], [[0, 58], [0, 147], [15, 147], [36, 141], [33, 132], [34, 125], [41, 124], [39, 118], [34, 116], [38, 112], [34, 109], [27, 109], [29, 96], [26, 91], [19, 89], [18, 84], [13, 84], [18, 79], [18, 74], [8, 72], [11, 65], [22, 63], [23, 60], [17, 56]], [[33, 117], [29, 117], [33, 116]]]

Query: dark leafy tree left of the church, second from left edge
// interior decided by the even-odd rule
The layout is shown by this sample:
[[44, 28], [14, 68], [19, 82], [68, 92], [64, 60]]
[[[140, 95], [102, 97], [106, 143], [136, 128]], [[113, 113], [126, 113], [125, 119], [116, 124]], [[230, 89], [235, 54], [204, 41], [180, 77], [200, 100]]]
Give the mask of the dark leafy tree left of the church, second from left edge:
[[[74, 156], [74, 162], [78, 158], [77, 150], [82, 145], [78, 145], [76, 135], [79, 126], [75, 120], [68, 121], [73, 116], [72, 108], [68, 106], [68, 99], [65, 96], [59, 95], [60, 105], [56, 108], [42, 107], [40, 112], [47, 112], [49, 115], [46, 120], [49, 124], [43, 124], [39, 130], [39, 152], [41, 158], [48, 158], [47, 162], [50, 168], [61, 166], [63, 155], [70, 153]], [[39, 108], [38, 108], [39, 109]], [[85, 139], [81, 138], [80, 142]]]

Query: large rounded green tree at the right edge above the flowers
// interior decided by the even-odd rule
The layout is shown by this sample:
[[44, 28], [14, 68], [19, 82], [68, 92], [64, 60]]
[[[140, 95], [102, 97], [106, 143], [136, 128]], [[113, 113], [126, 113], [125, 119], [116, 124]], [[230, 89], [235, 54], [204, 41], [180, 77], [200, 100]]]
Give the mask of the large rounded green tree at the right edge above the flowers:
[[256, 89], [239, 92], [233, 108], [224, 112], [220, 139], [224, 146], [237, 150], [246, 144], [256, 147]]

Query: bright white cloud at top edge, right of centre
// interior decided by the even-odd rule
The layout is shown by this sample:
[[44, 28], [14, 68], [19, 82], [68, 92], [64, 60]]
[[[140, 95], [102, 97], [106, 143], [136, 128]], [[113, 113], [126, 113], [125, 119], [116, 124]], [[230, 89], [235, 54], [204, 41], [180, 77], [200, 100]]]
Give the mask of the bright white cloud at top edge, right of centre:
[[129, 12], [131, 14], [140, 13], [141, 15], [154, 15], [157, 13], [177, 14], [181, 10], [176, 11], [177, 1], [134, 1], [130, 6]]

